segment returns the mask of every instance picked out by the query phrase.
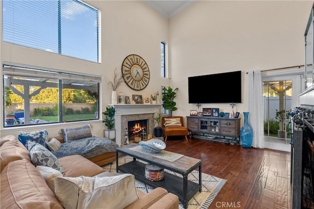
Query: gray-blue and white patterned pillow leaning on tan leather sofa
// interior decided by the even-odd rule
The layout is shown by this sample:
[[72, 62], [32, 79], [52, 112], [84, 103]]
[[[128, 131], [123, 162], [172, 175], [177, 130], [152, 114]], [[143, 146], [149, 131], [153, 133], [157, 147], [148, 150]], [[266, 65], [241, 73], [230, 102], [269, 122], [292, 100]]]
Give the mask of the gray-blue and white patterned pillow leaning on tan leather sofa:
[[64, 169], [58, 159], [43, 145], [28, 141], [30, 160], [34, 165], [52, 167], [64, 175]]

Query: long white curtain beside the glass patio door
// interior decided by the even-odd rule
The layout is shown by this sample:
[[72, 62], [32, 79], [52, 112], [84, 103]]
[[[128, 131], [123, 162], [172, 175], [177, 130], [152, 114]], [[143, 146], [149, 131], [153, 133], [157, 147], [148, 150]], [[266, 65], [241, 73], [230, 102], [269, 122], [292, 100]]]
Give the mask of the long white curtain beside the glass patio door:
[[264, 148], [263, 133], [263, 89], [261, 70], [251, 70], [249, 74], [249, 123], [253, 128], [252, 146]]

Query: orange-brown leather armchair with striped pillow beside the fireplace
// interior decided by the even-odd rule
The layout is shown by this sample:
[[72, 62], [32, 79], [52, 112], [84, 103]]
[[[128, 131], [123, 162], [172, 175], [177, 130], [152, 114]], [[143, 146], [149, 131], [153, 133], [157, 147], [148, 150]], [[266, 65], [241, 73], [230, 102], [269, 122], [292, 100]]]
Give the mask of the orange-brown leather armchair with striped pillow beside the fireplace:
[[184, 136], [187, 140], [187, 128], [183, 126], [183, 116], [162, 117], [162, 129], [165, 141], [168, 136]]

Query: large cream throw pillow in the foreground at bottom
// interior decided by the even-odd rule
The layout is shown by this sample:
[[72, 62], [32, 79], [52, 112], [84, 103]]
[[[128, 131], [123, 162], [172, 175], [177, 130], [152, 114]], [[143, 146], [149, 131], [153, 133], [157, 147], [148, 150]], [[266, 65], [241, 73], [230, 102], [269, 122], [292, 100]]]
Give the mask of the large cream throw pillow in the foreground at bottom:
[[122, 209], [138, 199], [132, 174], [56, 177], [54, 190], [65, 209]]

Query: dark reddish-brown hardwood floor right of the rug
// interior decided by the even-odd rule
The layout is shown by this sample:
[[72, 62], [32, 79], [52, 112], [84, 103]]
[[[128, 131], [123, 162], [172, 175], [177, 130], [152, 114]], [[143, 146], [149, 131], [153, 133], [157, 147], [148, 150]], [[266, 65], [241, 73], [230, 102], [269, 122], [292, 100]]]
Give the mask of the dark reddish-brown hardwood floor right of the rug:
[[201, 159], [203, 173], [227, 180], [209, 209], [291, 208], [289, 152], [181, 137], [166, 144], [167, 151]]

